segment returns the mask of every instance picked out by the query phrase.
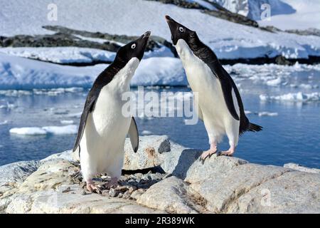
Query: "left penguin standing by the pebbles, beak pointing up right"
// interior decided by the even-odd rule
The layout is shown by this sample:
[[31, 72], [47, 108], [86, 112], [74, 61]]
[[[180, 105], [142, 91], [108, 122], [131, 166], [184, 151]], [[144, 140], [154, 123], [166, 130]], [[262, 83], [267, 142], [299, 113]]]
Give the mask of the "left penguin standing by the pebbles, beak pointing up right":
[[122, 115], [122, 94], [130, 90], [130, 80], [144, 56], [150, 31], [117, 51], [113, 63], [97, 76], [83, 108], [73, 151], [80, 150], [80, 166], [87, 190], [97, 190], [92, 177], [107, 172], [115, 185], [124, 161], [124, 141], [129, 134], [134, 152], [139, 146], [133, 117]]

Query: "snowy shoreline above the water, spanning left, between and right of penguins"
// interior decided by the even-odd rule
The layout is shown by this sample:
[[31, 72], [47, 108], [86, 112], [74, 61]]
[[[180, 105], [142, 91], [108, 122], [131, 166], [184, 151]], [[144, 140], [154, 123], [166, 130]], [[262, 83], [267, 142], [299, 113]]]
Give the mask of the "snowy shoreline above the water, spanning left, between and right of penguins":
[[[84, 67], [61, 66], [0, 53], [0, 90], [90, 88], [95, 78], [106, 67], [107, 64]], [[279, 66], [237, 63], [233, 66], [227, 65], [225, 69], [233, 76], [236, 83], [250, 80], [265, 86], [301, 88], [302, 90], [316, 89], [320, 86], [319, 79], [316, 77], [320, 73], [319, 64]], [[301, 73], [308, 77], [300, 79], [300, 77], [292, 77], [292, 73]], [[187, 86], [188, 81], [180, 59], [150, 57], [142, 59], [131, 85]], [[55, 92], [63, 92], [63, 90]], [[41, 90], [36, 90], [36, 93], [41, 93]]]

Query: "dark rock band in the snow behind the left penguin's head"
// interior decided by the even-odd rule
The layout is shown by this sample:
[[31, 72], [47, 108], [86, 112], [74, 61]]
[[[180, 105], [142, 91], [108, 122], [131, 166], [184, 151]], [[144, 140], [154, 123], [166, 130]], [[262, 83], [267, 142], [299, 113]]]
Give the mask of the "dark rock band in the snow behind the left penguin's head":
[[[63, 26], [43, 26], [43, 28], [55, 33], [35, 36], [0, 36], [0, 47], [36, 48], [75, 46], [82, 48], [97, 48], [116, 52], [122, 46], [121, 43], [129, 43], [130, 41], [138, 38], [138, 36], [80, 31]], [[95, 41], [95, 38], [99, 39], [99, 41]], [[154, 49], [160, 48], [161, 46], [168, 47], [176, 55], [176, 50], [174, 46], [172, 46], [172, 43], [159, 36], [151, 36], [149, 38], [149, 41], [146, 45], [146, 51], [154, 51]]]

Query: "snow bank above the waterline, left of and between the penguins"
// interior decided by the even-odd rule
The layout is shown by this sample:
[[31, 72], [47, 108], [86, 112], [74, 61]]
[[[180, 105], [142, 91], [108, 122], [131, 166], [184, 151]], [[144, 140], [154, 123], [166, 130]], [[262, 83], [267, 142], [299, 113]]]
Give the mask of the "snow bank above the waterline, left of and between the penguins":
[[[75, 67], [59, 66], [31, 59], [8, 56], [0, 53], [0, 90], [19, 95], [15, 90], [33, 90], [36, 94], [57, 95], [59, 93], [90, 88], [95, 78], [107, 67], [107, 64]], [[132, 86], [186, 86], [188, 83], [181, 61], [178, 58], [151, 57], [143, 59], [137, 69]], [[68, 88], [74, 87], [74, 88]], [[42, 90], [40, 88], [57, 88]], [[26, 91], [30, 94], [30, 91]]]

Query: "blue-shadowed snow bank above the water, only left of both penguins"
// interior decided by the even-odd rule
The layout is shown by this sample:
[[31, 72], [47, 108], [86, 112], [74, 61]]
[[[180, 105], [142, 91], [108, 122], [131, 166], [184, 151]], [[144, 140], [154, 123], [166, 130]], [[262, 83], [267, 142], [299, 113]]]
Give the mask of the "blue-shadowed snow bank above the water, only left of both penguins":
[[0, 53], [0, 89], [90, 87], [105, 67], [59, 66]]

